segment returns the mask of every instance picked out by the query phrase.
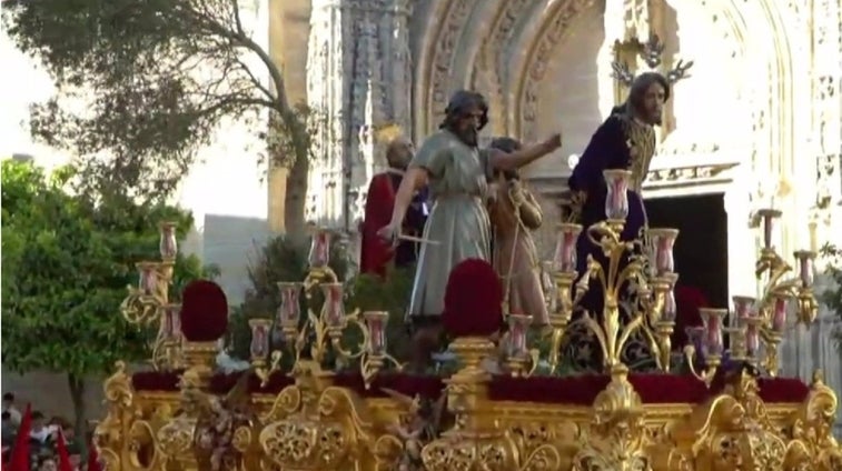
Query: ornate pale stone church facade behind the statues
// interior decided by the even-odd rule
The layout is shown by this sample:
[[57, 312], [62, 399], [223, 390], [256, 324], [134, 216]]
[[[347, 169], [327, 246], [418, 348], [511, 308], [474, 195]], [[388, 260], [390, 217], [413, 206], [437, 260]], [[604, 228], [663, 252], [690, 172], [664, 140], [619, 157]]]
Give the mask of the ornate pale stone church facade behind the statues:
[[[419, 143], [449, 94], [473, 89], [491, 104], [485, 138], [563, 130], [563, 148], [526, 171], [545, 221], [557, 220], [576, 156], [624, 99], [612, 62], [645, 69], [635, 44], [654, 34], [665, 69], [694, 64], [673, 90], [644, 196], [655, 219], [684, 230], [685, 259], [712, 271], [695, 280], [720, 283], [717, 303], [756, 293], [759, 209], [783, 211], [782, 254], [842, 233], [841, 14], [838, 0], [311, 0], [303, 96], [328, 119], [307, 218], [353, 234], [384, 168], [377, 130], [397, 124]], [[833, 319], [793, 329], [789, 373], [821, 365], [842, 387]]]

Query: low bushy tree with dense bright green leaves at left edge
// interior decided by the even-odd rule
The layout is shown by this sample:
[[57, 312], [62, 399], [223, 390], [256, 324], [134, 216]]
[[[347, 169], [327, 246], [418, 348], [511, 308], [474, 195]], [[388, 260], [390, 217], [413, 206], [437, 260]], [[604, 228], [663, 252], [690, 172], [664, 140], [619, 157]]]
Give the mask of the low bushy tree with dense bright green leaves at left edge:
[[[113, 196], [92, 201], [66, 190], [70, 168], [50, 178], [31, 164], [2, 162], [2, 358], [18, 373], [67, 373], [76, 430], [86, 432], [83, 378], [117, 360], [149, 358], [150, 333], [119, 312], [135, 263], [158, 255], [157, 224], [188, 213]], [[195, 257], [176, 261], [176, 292], [202, 275]]]

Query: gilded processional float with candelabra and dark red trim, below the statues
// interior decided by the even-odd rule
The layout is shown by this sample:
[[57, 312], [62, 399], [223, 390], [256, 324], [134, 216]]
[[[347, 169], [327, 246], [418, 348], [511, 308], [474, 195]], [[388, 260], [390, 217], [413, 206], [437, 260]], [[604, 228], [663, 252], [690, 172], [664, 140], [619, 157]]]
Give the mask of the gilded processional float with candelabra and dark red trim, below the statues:
[[[120, 363], [105, 382], [108, 414], [95, 434], [100, 457], [109, 470], [132, 471], [842, 469], [834, 392], [820, 373], [809, 387], [776, 374], [791, 318], [815, 318], [814, 254], [796, 252], [798, 273], [786, 278], [793, 270], [771, 243], [781, 213], [761, 211], [762, 295], [736, 297], [732, 311], [703, 309], [703, 325], [689, 328], [689, 344], [676, 352], [670, 340], [678, 232], [653, 228], [641, 241], [621, 240], [628, 177], [605, 172], [616, 191], [607, 220], [559, 226], [547, 263], [549, 345], [536, 354], [526, 337], [531, 318], [511, 315], [501, 374], [482, 367], [495, 354], [482, 337], [453, 340], [459, 367], [447, 378], [404, 373], [388, 354], [389, 313], [345, 305], [345, 285], [328, 267], [327, 231], [314, 234], [307, 278], [279, 281], [276, 315], [249, 321], [252, 368], [215, 372], [225, 332], [225, 318], [210, 312], [220, 307], [218, 287], [194, 290], [195, 298], [188, 287], [181, 309], [169, 302], [175, 228], [162, 224], [162, 260], [138, 265], [140, 281], [121, 309], [131, 322], [158, 323], [155, 369], [130, 374]], [[583, 231], [608, 263], [591, 260], [581, 275], [575, 241]], [[591, 279], [604, 309], [577, 319]], [[631, 303], [621, 295], [627, 290]], [[221, 328], [206, 325], [214, 322]], [[596, 339], [604, 374], [556, 371], [575, 324]], [[283, 341], [270, 351], [274, 330]], [[635, 334], [646, 339], [657, 371], [624, 364]], [[673, 371], [680, 357], [683, 374]], [[438, 410], [445, 401], [446, 411]]]

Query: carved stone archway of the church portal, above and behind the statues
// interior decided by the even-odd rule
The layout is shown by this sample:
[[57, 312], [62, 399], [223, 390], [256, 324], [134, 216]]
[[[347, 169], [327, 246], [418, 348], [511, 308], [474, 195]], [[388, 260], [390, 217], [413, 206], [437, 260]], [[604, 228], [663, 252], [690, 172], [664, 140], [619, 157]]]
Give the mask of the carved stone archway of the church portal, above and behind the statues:
[[[554, 47], [564, 39], [577, 14], [594, 1], [442, 0], [434, 3], [420, 41], [415, 74], [416, 136], [435, 129], [437, 117], [454, 89], [481, 86], [498, 118], [505, 119], [505, 124], [495, 120], [498, 123], [495, 132], [533, 137], [535, 88], [544, 78], [547, 62], [552, 61]], [[626, 3], [638, 1], [626, 0]], [[732, 46], [732, 56], [752, 61], [753, 70], [765, 71], [763, 77], [750, 78], [755, 90], [751, 97], [752, 148], [755, 154], [769, 156], [770, 160], [752, 162], [752, 167], [772, 173], [794, 171], [789, 132], [794, 117], [792, 54], [779, 6], [772, 0], [701, 0], [696, 8], [706, 13], [712, 29]], [[606, 36], [616, 36], [616, 32], [606, 31]]]

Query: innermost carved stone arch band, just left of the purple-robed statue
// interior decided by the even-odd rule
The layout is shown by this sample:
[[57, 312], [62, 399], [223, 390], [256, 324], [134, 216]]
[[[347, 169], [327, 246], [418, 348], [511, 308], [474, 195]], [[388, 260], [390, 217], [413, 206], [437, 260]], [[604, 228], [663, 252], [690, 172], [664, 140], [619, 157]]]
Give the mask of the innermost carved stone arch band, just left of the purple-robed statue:
[[533, 43], [527, 67], [519, 80], [516, 116], [517, 134], [524, 141], [535, 140], [535, 120], [538, 116], [538, 89], [546, 74], [556, 44], [566, 36], [576, 17], [590, 8], [594, 0], [566, 0], [554, 4], [555, 11], [549, 16], [549, 23], [542, 24], [537, 41]]

